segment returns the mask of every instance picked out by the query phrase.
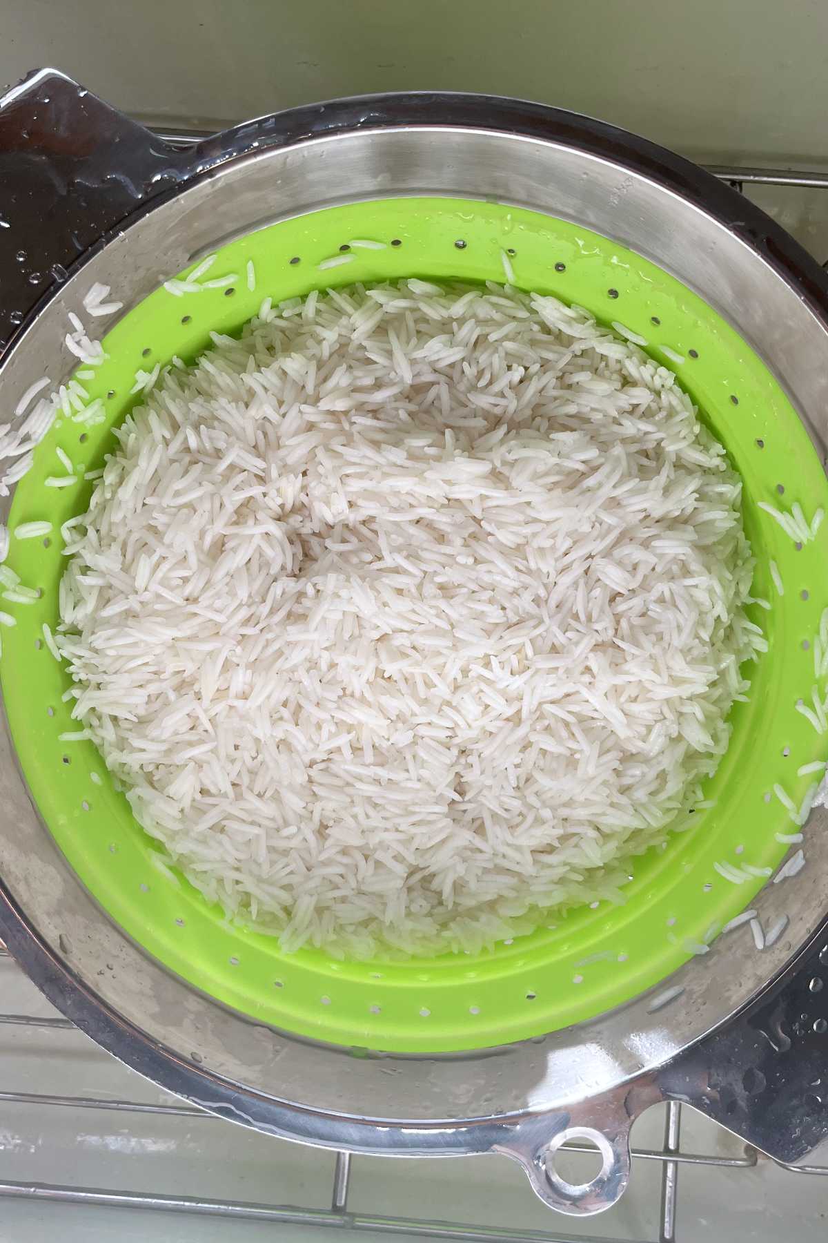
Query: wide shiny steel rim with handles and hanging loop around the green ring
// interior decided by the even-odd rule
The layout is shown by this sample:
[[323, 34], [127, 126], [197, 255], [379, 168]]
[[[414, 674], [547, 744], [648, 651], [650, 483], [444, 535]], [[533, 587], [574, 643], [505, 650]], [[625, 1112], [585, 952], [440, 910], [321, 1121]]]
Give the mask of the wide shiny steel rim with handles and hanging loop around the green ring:
[[[63, 323], [79, 307], [81, 281], [115, 287], [129, 307], [195, 255], [266, 222], [406, 194], [499, 199], [580, 221], [653, 260], [739, 328], [824, 455], [826, 278], [772, 221], [678, 157], [570, 113], [442, 94], [319, 104], [178, 152], [55, 71], [0, 98], [0, 226], [9, 226], [0, 244], [11, 240], [0, 251], [0, 409], [45, 369], [71, 370]], [[541, 1039], [400, 1057], [257, 1024], [146, 956], [56, 849], [7, 728], [0, 797], [0, 935], [12, 953], [93, 1039], [233, 1121], [358, 1152], [503, 1152], [546, 1203], [574, 1214], [621, 1196], [632, 1121], [668, 1096], [782, 1160], [803, 1157], [828, 1130], [821, 1103], [790, 1125], [797, 1103], [813, 1096], [813, 1050], [783, 1029], [802, 1011], [802, 981], [818, 973], [823, 947], [824, 808], [794, 907], [790, 886], [767, 886], [756, 904], [768, 924], [785, 909], [786, 936], [763, 955], [719, 941], [674, 977], [680, 1006], [650, 1013], [643, 996]], [[818, 994], [808, 1004], [819, 1017]], [[749, 1068], [768, 1091], [761, 1099], [745, 1088]], [[603, 1166], [575, 1187], [555, 1172], [554, 1154], [577, 1136], [597, 1144]]]

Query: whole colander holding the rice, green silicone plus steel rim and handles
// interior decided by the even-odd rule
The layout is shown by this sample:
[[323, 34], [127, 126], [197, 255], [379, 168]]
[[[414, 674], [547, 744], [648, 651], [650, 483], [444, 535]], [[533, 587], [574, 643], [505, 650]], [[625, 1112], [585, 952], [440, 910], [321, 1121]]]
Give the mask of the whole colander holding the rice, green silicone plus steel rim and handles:
[[[799, 769], [828, 753], [828, 736], [797, 706], [817, 682], [828, 525], [799, 547], [760, 508], [798, 502], [809, 520], [828, 508], [816, 447], [828, 291], [816, 265], [698, 169], [567, 113], [447, 96], [349, 101], [176, 153], [53, 73], [0, 101], [0, 244], [6, 234], [0, 337], [15, 334], [0, 358], [2, 409], [43, 373], [60, 383], [72, 372], [67, 312], [84, 314], [93, 282], [124, 302], [87, 321], [108, 357], [83, 384], [106, 423], [58, 420], [7, 517], [7, 564], [42, 594], [0, 603], [16, 622], [0, 661], [10, 726], [0, 736], [0, 935], [40, 986], [130, 1065], [225, 1116], [354, 1151], [503, 1151], [565, 1212], [621, 1195], [631, 1121], [664, 1095], [726, 1109], [731, 1126], [788, 1160], [807, 1151], [816, 1122], [799, 1117], [782, 1141], [767, 1131], [767, 1099], [746, 1095], [746, 1062], [760, 1057], [752, 1038], [736, 1059], [705, 1054], [704, 1071], [686, 1079], [667, 1071], [690, 1045], [713, 1048], [699, 1042], [726, 1019], [741, 1022], [734, 1014], [792, 965], [824, 914], [823, 809], [804, 829], [804, 871], [761, 889], [788, 849], [777, 834], [794, 830], [773, 787], [798, 807], [814, 781]], [[235, 273], [231, 283], [182, 297], [163, 288], [212, 252], [210, 277]], [[94, 470], [112, 447], [139, 368], [195, 359], [211, 331], [237, 332], [264, 297], [406, 276], [502, 281], [503, 252], [521, 288], [624, 324], [675, 369], [744, 480], [754, 594], [770, 604], [752, 617], [768, 651], [732, 711], [704, 805], [664, 849], [632, 861], [624, 905], [550, 916], [480, 955], [286, 955], [170, 871], [96, 750], [61, 742], [76, 726], [42, 629], [58, 619], [60, 528], [84, 512], [92, 485], [79, 467]], [[334, 256], [348, 262], [320, 267]], [[45, 486], [61, 472], [58, 447], [81, 475], [60, 490]], [[38, 520], [52, 525], [45, 538], [15, 537]], [[749, 879], [734, 884], [716, 864]], [[765, 929], [790, 920], [762, 953], [747, 929], [718, 936], [749, 904]], [[658, 1008], [665, 996], [674, 999]], [[816, 1002], [797, 996], [798, 1013], [806, 1004]], [[787, 1055], [788, 1076], [799, 1064]], [[804, 1069], [799, 1079], [786, 1100], [811, 1093]], [[555, 1175], [554, 1151], [585, 1129], [603, 1167], [572, 1187]]]

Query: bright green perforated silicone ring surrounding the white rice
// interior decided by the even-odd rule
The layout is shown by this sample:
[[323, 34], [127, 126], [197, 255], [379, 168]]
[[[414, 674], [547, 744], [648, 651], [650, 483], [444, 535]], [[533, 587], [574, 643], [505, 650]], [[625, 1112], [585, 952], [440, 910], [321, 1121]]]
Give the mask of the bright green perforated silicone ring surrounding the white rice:
[[[384, 249], [348, 249], [355, 239]], [[210, 331], [238, 332], [264, 297], [277, 302], [407, 276], [503, 281], [502, 252], [518, 286], [577, 303], [605, 323], [622, 322], [677, 372], [744, 480], [754, 595], [770, 604], [751, 605], [750, 615], [768, 651], [749, 671], [749, 702], [734, 706], [731, 743], [706, 783], [705, 805], [665, 848], [631, 861], [624, 905], [551, 914], [530, 936], [479, 955], [340, 962], [317, 950], [283, 953], [273, 937], [230, 924], [168, 865], [92, 743], [61, 741], [77, 728], [66, 700], [71, 682], [43, 639], [43, 624], [58, 622], [66, 564], [60, 528], [87, 507], [93, 485], [82, 470], [99, 467], [112, 450], [112, 428], [139, 400], [130, 395], [139, 368], [173, 355], [194, 360]], [[340, 255], [349, 261], [320, 270]], [[678, 280], [596, 232], [529, 210], [425, 196], [334, 206], [221, 246], [210, 277], [231, 273], [231, 285], [197, 293], [159, 287], [124, 314], [103, 339], [107, 360], [82, 382], [91, 399], [102, 399], [106, 421], [83, 430], [58, 419], [17, 486], [7, 564], [41, 595], [35, 604], [2, 603], [16, 625], [2, 631], [0, 669], [20, 764], [46, 824], [99, 905], [150, 955], [227, 1006], [303, 1037], [398, 1053], [468, 1050], [619, 1006], [663, 981], [750, 904], [765, 884], [762, 869], [775, 869], [788, 849], [777, 834], [796, 832], [772, 796], [775, 784], [798, 807], [814, 779], [798, 769], [828, 755], [797, 707], [811, 702], [816, 682], [828, 523], [802, 546], [758, 507], [763, 501], [787, 512], [799, 502], [808, 517], [828, 508], [826, 475], [796, 410], [747, 343]], [[58, 447], [78, 464], [78, 482], [66, 488], [45, 486], [60, 471]], [[50, 536], [15, 538], [20, 523], [37, 520], [52, 523]], [[747, 865], [756, 875], [734, 884], [716, 863]]]

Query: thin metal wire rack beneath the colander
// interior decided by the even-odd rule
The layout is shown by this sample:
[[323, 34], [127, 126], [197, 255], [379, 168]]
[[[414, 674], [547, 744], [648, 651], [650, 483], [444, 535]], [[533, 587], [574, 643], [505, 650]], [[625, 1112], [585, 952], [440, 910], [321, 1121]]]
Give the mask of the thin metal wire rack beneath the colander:
[[[204, 133], [184, 131], [174, 133], [158, 131], [158, 133], [165, 142], [176, 147], [187, 147], [207, 137]], [[740, 191], [750, 185], [828, 190], [828, 173], [739, 167], [710, 167], [709, 170], [720, 180], [727, 181]], [[10, 960], [9, 951], [1, 943], [0, 958]], [[6, 970], [15, 970], [11, 960], [6, 963]], [[77, 1032], [78, 1038], [84, 1039], [73, 1023], [58, 1017], [0, 1013], [0, 1024], [31, 1029]], [[0, 1074], [1, 1070], [2, 1064], [0, 1063]], [[204, 1125], [221, 1125], [222, 1122], [215, 1115], [190, 1105], [148, 1104], [103, 1096], [65, 1096], [47, 1093], [0, 1090], [1, 1105], [104, 1110], [125, 1115], [155, 1114], [169, 1119], [199, 1119]], [[577, 1144], [569, 1144], [566, 1147], [582, 1154], [591, 1151], [588, 1147]], [[669, 1103], [667, 1106], [662, 1149], [633, 1149], [632, 1155], [637, 1162], [654, 1161], [660, 1166], [658, 1241], [638, 1239], [634, 1243], [680, 1243], [678, 1234], [680, 1166], [708, 1166], [719, 1170], [739, 1171], [755, 1168], [758, 1161], [756, 1149], [750, 1146], [745, 1146], [742, 1156], [719, 1156], [682, 1151], [682, 1106], [675, 1101]], [[598, 1238], [581, 1233], [576, 1236], [552, 1228], [550, 1231], [519, 1231], [509, 1227], [482, 1227], [458, 1221], [433, 1221], [350, 1212], [348, 1208], [349, 1187], [351, 1173], [358, 1161], [360, 1161], [360, 1157], [354, 1157], [348, 1152], [336, 1154], [329, 1208], [302, 1208], [293, 1204], [252, 1203], [240, 1199], [211, 1199], [205, 1197], [161, 1195], [151, 1191], [102, 1190], [98, 1187], [62, 1186], [30, 1180], [2, 1181], [1, 1178], [0, 1199], [16, 1198], [29, 1202], [82, 1204], [101, 1208], [155, 1209], [156, 1212], [165, 1213], [216, 1217], [228, 1221], [253, 1221], [282, 1227], [331, 1227], [340, 1231], [364, 1231], [376, 1234], [408, 1236], [423, 1239], [454, 1239], [461, 1241], [461, 1243], [633, 1243], [631, 1239], [617, 1239], [607, 1236]], [[788, 1170], [792, 1175], [828, 1175], [828, 1166], [787, 1166], [781, 1162], [776, 1163]]]

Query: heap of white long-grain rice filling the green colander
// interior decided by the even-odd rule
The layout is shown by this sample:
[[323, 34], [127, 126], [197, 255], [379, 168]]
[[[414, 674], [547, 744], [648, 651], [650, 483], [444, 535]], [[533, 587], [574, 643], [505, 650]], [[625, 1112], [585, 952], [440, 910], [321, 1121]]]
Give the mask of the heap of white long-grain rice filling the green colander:
[[267, 300], [212, 342], [66, 549], [73, 715], [139, 823], [292, 950], [622, 900], [763, 645], [740, 480], [673, 373], [493, 283]]

